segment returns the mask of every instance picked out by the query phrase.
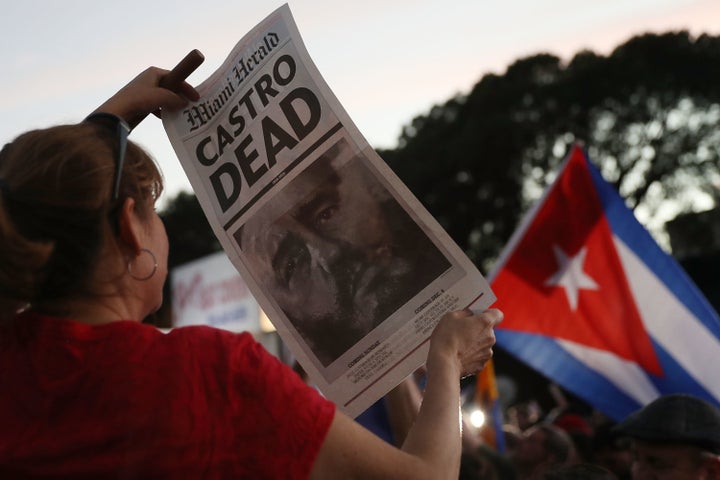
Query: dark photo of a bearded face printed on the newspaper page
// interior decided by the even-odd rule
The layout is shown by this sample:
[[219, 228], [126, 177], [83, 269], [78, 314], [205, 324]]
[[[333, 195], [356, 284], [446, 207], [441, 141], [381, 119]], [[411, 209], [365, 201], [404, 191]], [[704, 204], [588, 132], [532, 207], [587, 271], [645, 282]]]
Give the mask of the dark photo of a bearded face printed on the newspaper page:
[[326, 367], [450, 267], [345, 140], [283, 187], [236, 240]]

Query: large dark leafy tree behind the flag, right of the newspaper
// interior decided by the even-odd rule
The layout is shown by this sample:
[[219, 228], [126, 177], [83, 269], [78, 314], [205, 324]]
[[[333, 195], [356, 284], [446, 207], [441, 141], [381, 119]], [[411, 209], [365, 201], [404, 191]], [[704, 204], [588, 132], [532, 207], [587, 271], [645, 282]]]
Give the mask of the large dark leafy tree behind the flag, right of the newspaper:
[[575, 142], [647, 218], [668, 205], [692, 211], [698, 198], [713, 205], [718, 79], [720, 37], [687, 32], [634, 37], [607, 57], [583, 51], [567, 64], [538, 54], [416, 117], [380, 154], [489, 268]]

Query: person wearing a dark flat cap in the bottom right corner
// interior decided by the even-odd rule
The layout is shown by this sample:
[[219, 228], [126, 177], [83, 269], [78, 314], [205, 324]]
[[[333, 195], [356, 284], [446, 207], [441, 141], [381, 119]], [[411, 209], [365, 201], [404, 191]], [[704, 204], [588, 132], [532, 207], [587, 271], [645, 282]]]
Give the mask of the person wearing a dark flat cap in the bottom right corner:
[[720, 408], [692, 395], [663, 395], [615, 431], [631, 440], [633, 480], [720, 479]]

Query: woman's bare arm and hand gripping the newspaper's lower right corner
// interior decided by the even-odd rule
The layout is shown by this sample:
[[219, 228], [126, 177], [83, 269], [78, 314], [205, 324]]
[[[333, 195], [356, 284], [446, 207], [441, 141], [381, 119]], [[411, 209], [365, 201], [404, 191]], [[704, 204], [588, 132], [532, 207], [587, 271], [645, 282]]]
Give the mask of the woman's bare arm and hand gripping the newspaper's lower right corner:
[[310, 478], [457, 479], [462, 453], [460, 378], [477, 372], [492, 357], [492, 328], [501, 319], [497, 310], [446, 314], [430, 341], [422, 405], [402, 451], [338, 412]]

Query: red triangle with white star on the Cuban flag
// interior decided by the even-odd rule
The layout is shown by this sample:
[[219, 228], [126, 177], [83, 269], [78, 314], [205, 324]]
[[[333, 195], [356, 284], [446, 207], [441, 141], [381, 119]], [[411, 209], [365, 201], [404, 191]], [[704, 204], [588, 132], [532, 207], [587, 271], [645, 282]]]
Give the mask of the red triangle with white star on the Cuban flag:
[[500, 329], [605, 350], [661, 375], [588, 165], [575, 147], [492, 281]]

